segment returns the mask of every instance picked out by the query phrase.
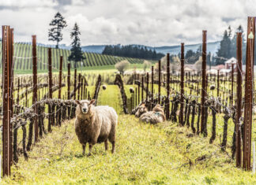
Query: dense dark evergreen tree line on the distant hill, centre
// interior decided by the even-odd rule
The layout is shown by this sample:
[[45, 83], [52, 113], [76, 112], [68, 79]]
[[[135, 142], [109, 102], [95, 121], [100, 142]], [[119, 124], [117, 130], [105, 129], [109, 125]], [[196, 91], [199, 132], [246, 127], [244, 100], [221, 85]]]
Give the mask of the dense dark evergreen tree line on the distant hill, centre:
[[146, 46], [121, 46], [120, 44], [105, 46], [102, 54], [143, 58], [147, 60], [160, 60], [161, 57], [164, 57], [164, 54], [156, 53], [156, 50], [148, 49]]

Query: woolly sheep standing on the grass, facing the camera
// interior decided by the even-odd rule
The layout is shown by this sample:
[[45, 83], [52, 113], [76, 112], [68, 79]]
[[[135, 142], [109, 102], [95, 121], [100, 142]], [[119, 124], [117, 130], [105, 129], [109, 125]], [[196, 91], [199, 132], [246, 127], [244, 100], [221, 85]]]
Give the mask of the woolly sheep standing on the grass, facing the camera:
[[104, 142], [105, 150], [107, 150], [107, 139], [112, 144], [112, 154], [114, 154], [115, 128], [118, 123], [118, 115], [115, 109], [107, 105], [94, 106], [94, 99], [92, 99], [92, 101], [77, 100], [76, 102], [75, 131], [83, 147], [83, 155], [85, 155], [87, 142], [89, 146], [88, 156], [91, 155], [92, 146], [95, 145], [96, 142]]

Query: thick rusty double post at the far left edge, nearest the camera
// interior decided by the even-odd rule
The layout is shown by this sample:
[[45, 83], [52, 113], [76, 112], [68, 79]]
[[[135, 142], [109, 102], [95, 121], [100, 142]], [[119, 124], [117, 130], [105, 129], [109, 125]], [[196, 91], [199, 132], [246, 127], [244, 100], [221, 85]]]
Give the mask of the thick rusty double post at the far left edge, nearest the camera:
[[9, 26], [2, 26], [2, 86], [2, 176], [9, 176], [13, 161], [13, 29]]

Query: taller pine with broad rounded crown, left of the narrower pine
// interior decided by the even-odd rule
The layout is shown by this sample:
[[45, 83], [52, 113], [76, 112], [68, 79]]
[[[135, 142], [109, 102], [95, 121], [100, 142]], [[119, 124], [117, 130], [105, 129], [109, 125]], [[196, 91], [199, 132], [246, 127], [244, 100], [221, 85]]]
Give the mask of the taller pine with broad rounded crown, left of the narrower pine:
[[56, 13], [55, 18], [51, 20], [50, 26], [52, 28], [49, 29], [48, 39], [50, 41], [56, 41], [56, 48], [58, 48], [58, 43], [62, 41], [62, 29], [67, 26], [66, 20], [62, 17], [62, 14], [58, 12]]

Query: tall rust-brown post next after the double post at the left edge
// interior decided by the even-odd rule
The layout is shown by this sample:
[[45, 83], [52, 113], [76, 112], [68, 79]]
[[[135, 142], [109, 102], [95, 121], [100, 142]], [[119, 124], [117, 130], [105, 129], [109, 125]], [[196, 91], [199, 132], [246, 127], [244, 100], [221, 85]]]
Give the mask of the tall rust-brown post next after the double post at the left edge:
[[33, 99], [34, 124], [35, 124], [35, 142], [38, 140], [38, 120], [37, 120], [37, 64], [36, 64], [36, 35], [32, 35], [32, 62], [33, 62]]

